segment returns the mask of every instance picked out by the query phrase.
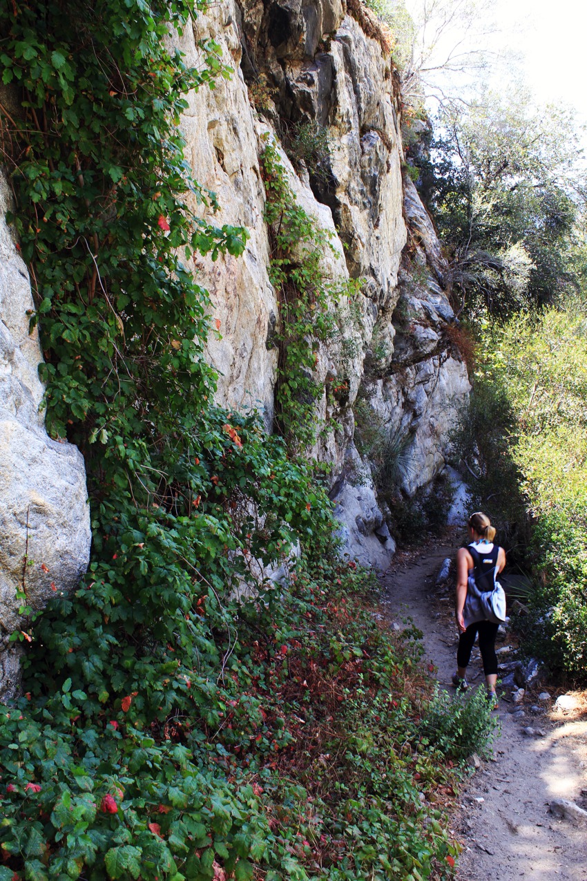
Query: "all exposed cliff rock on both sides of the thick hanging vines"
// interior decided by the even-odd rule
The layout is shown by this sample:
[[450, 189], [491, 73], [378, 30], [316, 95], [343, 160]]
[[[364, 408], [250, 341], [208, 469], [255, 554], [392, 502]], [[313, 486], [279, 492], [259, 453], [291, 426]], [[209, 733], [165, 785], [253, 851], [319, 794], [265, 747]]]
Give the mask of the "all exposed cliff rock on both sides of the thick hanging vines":
[[[216, 192], [220, 211], [194, 201], [214, 224], [246, 226], [245, 255], [199, 258], [194, 276], [213, 309], [208, 357], [217, 400], [256, 408], [274, 426], [282, 322], [269, 278], [260, 152], [277, 144], [290, 189], [317, 228], [331, 235], [323, 271], [335, 284], [356, 279], [351, 303], [332, 304], [337, 332], [316, 344], [316, 401], [329, 426], [312, 454], [329, 463], [341, 537], [357, 560], [384, 569], [395, 544], [378, 496], [371, 451], [356, 446], [356, 415], [400, 441], [409, 496], [444, 468], [450, 431], [466, 401], [466, 367], [447, 333], [454, 321], [444, 291], [437, 236], [409, 179], [402, 180], [400, 100], [385, 33], [360, 0], [224, 0], [210, 4], [180, 39], [187, 63], [211, 37], [229, 79], [189, 96], [182, 128], [195, 178]], [[302, 134], [309, 138], [298, 149]], [[289, 156], [294, 159], [294, 164]], [[74, 589], [87, 566], [89, 509], [76, 448], [48, 438], [40, 403], [36, 333], [25, 264], [4, 224], [0, 189], [0, 700], [17, 688], [18, 648], [28, 606]], [[333, 395], [332, 389], [344, 394]], [[379, 438], [380, 440], [380, 438]], [[397, 446], [397, 444], [396, 444]], [[393, 448], [393, 443], [391, 444]]]

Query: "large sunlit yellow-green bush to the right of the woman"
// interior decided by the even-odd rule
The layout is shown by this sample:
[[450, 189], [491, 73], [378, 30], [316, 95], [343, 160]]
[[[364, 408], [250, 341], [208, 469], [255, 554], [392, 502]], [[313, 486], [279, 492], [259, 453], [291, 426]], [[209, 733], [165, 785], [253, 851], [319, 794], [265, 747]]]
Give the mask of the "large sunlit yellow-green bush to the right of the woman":
[[[587, 671], [587, 338], [582, 308], [517, 317], [483, 338], [466, 434], [483, 489], [526, 546], [534, 588], [518, 618], [528, 651]], [[493, 517], [492, 517], [493, 519]], [[513, 524], [513, 529], [511, 528]], [[507, 535], [507, 532], [506, 532]]]

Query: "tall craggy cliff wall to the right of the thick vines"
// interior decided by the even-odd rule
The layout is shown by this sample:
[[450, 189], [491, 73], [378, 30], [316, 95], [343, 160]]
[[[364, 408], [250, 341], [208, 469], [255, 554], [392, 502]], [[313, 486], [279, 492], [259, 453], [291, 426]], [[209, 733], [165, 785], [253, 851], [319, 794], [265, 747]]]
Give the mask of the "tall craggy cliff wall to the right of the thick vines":
[[[312, 453], [332, 466], [347, 550], [385, 569], [395, 544], [368, 452], [362, 458], [356, 449], [357, 395], [363, 417], [366, 405], [382, 430], [403, 439], [411, 464], [401, 490], [413, 495], [443, 470], [469, 384], [447, 333], [455, 318], [440, 243], [412, 181], [402, 180], [400, 100], [385, 34], [382, 39], [356, 0], [352, 9], [347, 14], [341, 0], [212, 5], [184, 33], [181, 48], [194, 63], [198, 39], [214, 37], [234, 75], [190, 96], [182, 125], [194, 174], [222, 206], [215, 222], [242, 224], [251, 233], [244, 260], [204, 259], [194, 267], [209, 287], [212, 319], [220, 321], [208, 348], [221, 374], [220, 403], [257, 406], [271, 426], [276, 353], [270, 340], [280, 316], [262, 219], [259, 156], [267, 134], [283, 145], [298, 202], [334, 233], [327, 274], [360, 279], [355, 314], [341, 302], [340, 334], [319, 346], [316, 378], [344, 381], [349, 392], [343, 401], [325, 394], [317, 402], [335, 428]], [[319, 169], [301, 161], [294, 168], [287, 158], [300, 125], [326, 133], [327, 159]]]

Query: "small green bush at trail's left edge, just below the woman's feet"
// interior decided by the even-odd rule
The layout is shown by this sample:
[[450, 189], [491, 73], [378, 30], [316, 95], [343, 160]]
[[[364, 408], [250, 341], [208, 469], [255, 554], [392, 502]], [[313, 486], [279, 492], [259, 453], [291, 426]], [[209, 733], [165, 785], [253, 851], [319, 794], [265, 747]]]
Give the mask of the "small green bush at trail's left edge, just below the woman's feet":
[[423, 727], [430, 743], [445, 756], [466, 759], [473, 752], [487, 755], [499, 721], [483, 686], [454, 695], [437, 688]]

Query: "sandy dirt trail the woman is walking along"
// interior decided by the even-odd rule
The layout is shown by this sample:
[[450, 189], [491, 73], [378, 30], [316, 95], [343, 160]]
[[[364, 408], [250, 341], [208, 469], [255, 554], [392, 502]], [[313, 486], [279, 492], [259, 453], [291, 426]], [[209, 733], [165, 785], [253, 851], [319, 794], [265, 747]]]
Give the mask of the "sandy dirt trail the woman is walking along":
[[[435, 587], [449, 544], [398, 555], [384, 579], [391, 620], [401, 625], [409, 615], [423, 633], [424, 660], [437, 666], [441, 685], [451, 688], [458, 633], [452, 589]], [[499, 645], [504, 645], [503, 640]], [[476, 648], [476, 647], [475, 647]], [[484, 682], [481, 659], [473, 649], [469, 682]], [[537, 691], [550, 691], [540, 685]], [[535, 690], [536, 691], [536, 690]], [[462, 790], [459, 813], [451, 825], [464, 849], [459, 857], [460, 881], [587, 881], [587, 825], [574, 826], [549, 811], [554, 798], [566, 798], [587, 808], [587, 714], [561, 711], [532, 714], [537, 694], [528, 695], [525, 716], [513, 718], [510, 690], [503, 692], [497, 715], [501, 737], [493, 758]], [[531, 726], [544, 737], [528, 737]]]

